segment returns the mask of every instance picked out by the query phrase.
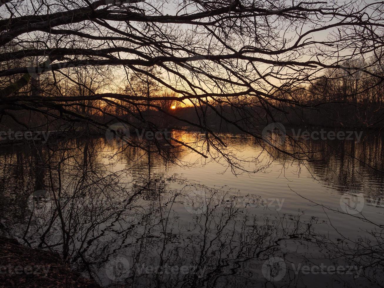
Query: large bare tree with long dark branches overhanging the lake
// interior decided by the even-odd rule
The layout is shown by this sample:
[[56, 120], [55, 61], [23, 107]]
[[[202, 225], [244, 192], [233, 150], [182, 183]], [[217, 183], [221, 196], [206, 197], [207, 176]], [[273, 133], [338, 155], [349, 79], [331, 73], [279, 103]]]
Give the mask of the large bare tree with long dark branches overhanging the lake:
[[[156, 131], [160, 129], [157, 123], [142, 113], [151, 109], [174, 118], [180, 126], [203, 131], [207, 141], [196, 151], [202, 156], [225, 157], [237, 166], [220, 133], [211, 129], [210, 118], [262, 145], [304, 159], [308, 157], [305, 147], [295, 150], [263, 142], [263, 125], [289, 122], [290, 114], [326, 105], [324, 99], [303, 101], [303, 93], [308, 94], [310, 85], [322, 81], [329, 69], [353, 75], [341, 80], [344, 91], [332, 99], [334, 102], [358, 100], [357, 76], [370, 76], [366, 83], [372, 88], [381, 84], [383, 10], [382, 1], [357, 0], [7, 2], [0, 8], [0, 76], [16, 79], [3, 86], [0, 104], [8, 114], [18, 109], [49, 111], [50, 117], [104, 128], [111, 121], [132, 124], [134, 119], [136, 126], [141, 123]], [[43, 46], [31, 48], [27, 45], [31, 41]], [[46, 60], [32, 68], [18, 62], [43, 56]], [[352, 61], [357, 57], [369, 59], [369, 65]], [[91, 95], [18, 93], [31, 82], [31, 75], [43, 73], [54, 78], [54, 71], [84, 66], [114, 66], [119, 70], [116, 76], [125, 74], [127, 81], [135, 84], [123, 92], [116, 86]], [[150, 97], [157, 87], [170, 89], [177, 96]], [[163, 109], [159, 105], [163, 100], [192, 105], [195, 117]], [[75, 112], [69, 108], [73, 105], [86, 108]], [[88, 109], [103, 117], [90, 117]], [[117, 110], [129, 117], [119, 117], [113, 113]], [[373, 117], [368, 125], [380, 122], [380, 117]], [[332, 120], [344, 125], [349, 121], [341, 116]], [[177, 139], [168, 144], [193, 149]]]

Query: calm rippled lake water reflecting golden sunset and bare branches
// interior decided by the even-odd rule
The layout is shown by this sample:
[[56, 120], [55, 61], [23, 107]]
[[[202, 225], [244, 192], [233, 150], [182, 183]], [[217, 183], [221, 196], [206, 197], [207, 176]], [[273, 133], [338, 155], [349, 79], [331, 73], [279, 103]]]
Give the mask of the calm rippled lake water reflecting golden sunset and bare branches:
[[107, 287], [382, 286], [381, 135], [303, 141], [306, 161], [224, 138], [257, 172], [104, 138], [2, 147], [0, 231]]

